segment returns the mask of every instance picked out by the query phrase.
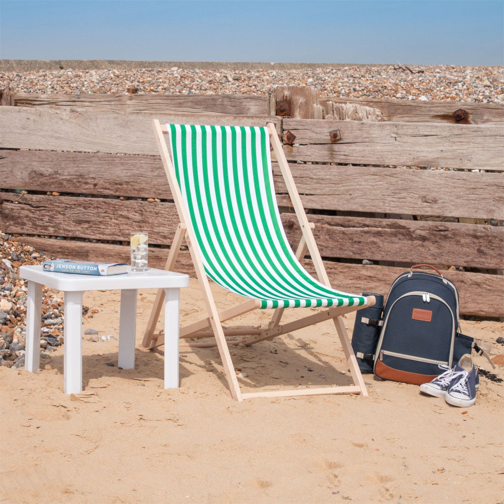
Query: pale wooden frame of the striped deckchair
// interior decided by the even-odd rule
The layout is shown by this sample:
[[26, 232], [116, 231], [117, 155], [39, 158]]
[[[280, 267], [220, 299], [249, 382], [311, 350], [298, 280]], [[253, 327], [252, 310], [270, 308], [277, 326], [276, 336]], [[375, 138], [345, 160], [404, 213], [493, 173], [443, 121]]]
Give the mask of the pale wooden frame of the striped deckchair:
[[[205, 272], [203, 262], [200, 253], [193, 243], [197, 243], [194, 231], [191, 227], [191, 221], [188, 217], [187, 211], [185, 209], [182, 194], [180, 192], [177, 180], [175, 178], [175, 171], [171, 161], [171, 156], [166, 145], [164, 135], [167, 134], [166, 125], [161, 125], [157, 119], [152, 122], [153, 130], [156, 137], [156, 142], [161, 154], [161, 159], [163, 166], [170, 184], [171, 192], [175, 202], [175, 206], [180, 218], [180, 224], [177, 226], [173, 242], [171, 244], [170, 253], [166, 261], [165, 269], [172, 270], [175, 266], [175, 261], [177, 259], [178, 251], [182, 241], [185, 239], [188, 248], [191, 253], [191, 258], [194, 263], [196, 274], [199, 280], [199, 284], [203, 293], [205, 300], [205, 306], [207, 309], [208, 317], [202, 319], [196, 323], [180, 329], [180, 338], [202, 338], [202, 337], [213, 337], [215, 339], [215, 344], [206, 343], [192, 343], [190, 346], [217, 346], [219, 349], [220, 356], [222, 358], [222, 363], [224, 366], [224, 371], [226, 373], [226, 378], [228, 382], [229, 389], [231, 391], [231, 396], [233, 399], [241, 401], [243, 399], [252, 397], [281, 397], [281, 396], [305, 396], [305, 395], [320, 395], [320, 394], [362, 394], [367, 396], [366, 386], [362, 379], [362, 375], [355, 358], [355, 354], [350, 344], [348, 334], [343, 323], [341, 316], [345, 313], [361, 309], [365, 306], [374, 304], [375, 300], [373, 296], [367, 297], [367, 304], [360, 306], [339, 306], [330, 307], [322, 311], [311, 314], [308, 317], [296, 320], [294, 322], [289, 322], [286, 324], [280, 324], [284, 308], [276, 308], [273, 313], [271, 322], [267, 328], [259, 329], [241, 329], [241, 330], [224, 330], [222, 323], [238, 317], [244, 313], [252, 311], [259, 308], [260, 301], [258, 299], [248, 299], [247, 301], [228, 308], [224, 311], [219, 312], [213, 295], [211, 292], [209, 280]], [[324, 263], [319, 253], [317, 244], [313, 238], [312, 228], [313, 224], [308, 222], [306, 213], [304, 212], [301, 199], [297, 192], [296, 186], [294, 184], [294, 179], [290, 171], [287, 159], [282, 149], [282, 144], [278, 138], [277, 132], [275, 130], [273, 123], [268, 123], [267, 128], [270, 135], [270, 142], [273, 152], [277, 158], [280, 170], [284, 177], [287, 190], [292, 201], [292, 206], [294, 208], [295, 214], [299, 221], [299, 225], [302, 230], [302, 238], [296, 251], [296, 257], [301, 260], [305, 254], [308, 252], [319, 277], [319, 281], [326, 286], [330, 287], [329, 277], [324, 268]], [[159, 319], [159, 314], [161, 306], [163, 303], [164, 291], [159, 289], [154, 301], [150, 319], [145, 331], [143, 346], [145, 348], [155, 348], [164, 344], [164, 335], [155, 334], [156, 324]], [[295, 308], [301, 310], [302, 308]], [[301, 329], [325, 320], [332, 319], [338, 333], [345, 358], [347, 360], [350, 373], [353, 379], [353, 386], [338, 386], [338, 387], [322, 387], [322, 388], [307, 388], [307, 389], [295, 389], [295, 390], [265, 390], [257, 392], [242, 393], [240, 386], [236, 377], [234, 370], [234, 365], [229, 353], [228, 345], [244, 343], [245, 345], [251, 345], [260, 341], [271, 339], [275, 336], [280, 336], [288, 332], [295, 331], [296, 329]], [[210, 329], [210, 330], [209, 330]], [[227, 341], [226, 336], [242, 336], [241, 339], [234, 341]]]

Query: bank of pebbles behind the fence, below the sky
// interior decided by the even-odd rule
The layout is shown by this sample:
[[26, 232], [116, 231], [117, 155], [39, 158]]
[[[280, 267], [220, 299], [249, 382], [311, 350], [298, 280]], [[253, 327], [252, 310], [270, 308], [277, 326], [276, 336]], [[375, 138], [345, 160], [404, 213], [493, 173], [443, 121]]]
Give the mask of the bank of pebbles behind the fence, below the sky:
[[503, 67], [341, 66], [290, 70], [107, 69], [2, 72], [15, 92], [65, 94], [268, 95], [312, 86], [320, 96], [504, 103]]

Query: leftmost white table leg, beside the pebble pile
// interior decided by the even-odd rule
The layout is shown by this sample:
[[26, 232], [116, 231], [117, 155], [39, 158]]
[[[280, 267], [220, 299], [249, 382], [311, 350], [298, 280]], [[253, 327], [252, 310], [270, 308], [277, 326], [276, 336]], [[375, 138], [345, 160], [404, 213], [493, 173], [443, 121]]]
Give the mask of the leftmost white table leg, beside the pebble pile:
[[25, 369], [34, 373], [40, 367], [40, 317], [42, 285], [28, 280], [26, 303]]

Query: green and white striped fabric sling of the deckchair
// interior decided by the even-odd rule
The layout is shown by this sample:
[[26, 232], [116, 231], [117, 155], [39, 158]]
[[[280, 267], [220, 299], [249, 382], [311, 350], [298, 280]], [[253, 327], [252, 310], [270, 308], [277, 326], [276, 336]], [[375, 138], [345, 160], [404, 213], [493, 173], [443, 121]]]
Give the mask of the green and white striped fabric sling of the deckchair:
[[207, 275], [261, 308], [350, 306], [365, 297], [314, 279], [285, 235], [266, 128], [167, 124], [172, 160]]

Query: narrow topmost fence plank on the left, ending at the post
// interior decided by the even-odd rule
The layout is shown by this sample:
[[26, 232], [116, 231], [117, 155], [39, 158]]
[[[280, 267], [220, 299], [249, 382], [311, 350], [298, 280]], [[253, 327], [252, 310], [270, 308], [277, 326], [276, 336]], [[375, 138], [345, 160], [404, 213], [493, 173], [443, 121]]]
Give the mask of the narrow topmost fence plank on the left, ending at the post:
[[269, 115], [268, 96], [252, 95], [124, 95], [16, 93], [16, 106], [93, 107], [163, 114], [209, 112]]

